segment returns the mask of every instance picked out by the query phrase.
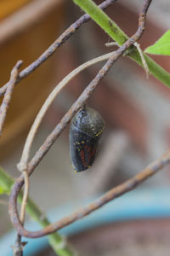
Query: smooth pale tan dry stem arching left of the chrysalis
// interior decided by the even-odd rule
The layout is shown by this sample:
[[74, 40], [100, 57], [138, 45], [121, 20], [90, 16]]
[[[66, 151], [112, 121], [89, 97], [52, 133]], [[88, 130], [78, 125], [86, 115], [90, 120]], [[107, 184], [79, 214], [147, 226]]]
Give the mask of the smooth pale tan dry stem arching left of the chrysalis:
[[31, 130], [26, 138], [26, 143], [22, 151], [20, 163], [17, 165], [20, 172], [24, 172], [27, 169], [29, 154], [31, 150], [31, 144], [33, 143], [33, 139], [37, 133], [37, 129], [41, 124], [45, 113], [47, 113], [49, 106], [52, 104], [52, 102], [54, 102], [54, 98], [59, 94], [60, 90], [62, 90], [65, 87], [65, 85], [68, 84], [71, 81], [71, 79], [73, 79], [78, 73], [82, 72], [82, 70], [94, 65], [95, 63], [98, 63], [99, 61], [105, 61], [109, 59], [111, 55], [112, 55], [112, 52], [106, 55], [101, 55], [97, 58], [94, 58], [91, 61], [87, 61], [83, 63], [81, 66], [77, 67], [71, 73], [69, 73], [59, 84], [55, 86], [54, 90], [50, 93], [47, 100], [43, 103], [42, 108], [37, 114], [37, 117], [34, 120], [34, 123], [31, 126]]

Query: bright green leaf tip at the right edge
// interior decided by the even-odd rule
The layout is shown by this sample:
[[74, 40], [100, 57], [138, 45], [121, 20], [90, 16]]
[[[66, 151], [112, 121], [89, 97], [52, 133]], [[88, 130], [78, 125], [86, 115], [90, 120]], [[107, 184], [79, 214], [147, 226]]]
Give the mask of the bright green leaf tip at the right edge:
[[170, 55], [170, 30], [165, 32], [155, 44], [150, 45], [144, 52], [151, 55]]

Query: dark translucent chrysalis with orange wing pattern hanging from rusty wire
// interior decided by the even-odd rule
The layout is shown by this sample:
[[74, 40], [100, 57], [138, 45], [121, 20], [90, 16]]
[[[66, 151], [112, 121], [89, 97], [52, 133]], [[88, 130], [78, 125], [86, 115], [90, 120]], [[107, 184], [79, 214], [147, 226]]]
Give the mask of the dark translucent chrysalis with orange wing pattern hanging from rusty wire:
[[85, 171], [93, 165], [104, 127], [104, 119], [96, 110], [87, 106], [72, 119], [69, 135], [70, 154], [76, 172]]

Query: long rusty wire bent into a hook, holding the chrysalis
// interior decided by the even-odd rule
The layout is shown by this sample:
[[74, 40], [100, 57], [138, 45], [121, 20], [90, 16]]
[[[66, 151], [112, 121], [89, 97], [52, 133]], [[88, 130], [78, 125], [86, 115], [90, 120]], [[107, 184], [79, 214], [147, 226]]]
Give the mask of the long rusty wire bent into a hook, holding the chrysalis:
[[[33, 159], [31, 160], [28, 166], [29, 175], [31, 175], [31, 173], [33, 172], [37, 164], [40, 162], [40, 160], [42, 160], [43, 155], [48, 152], [48, 149], [52, 146], [56, 138], [59, 137], [62, 131], [64, 131], [65, 126], [71, 121], [71, 118], [74, 116], [74, 114], [77, 113], [77, 111], [80, 108], [82, 108], [84, 103], [88, 100], [88, 97], [92, 94], [96, 86], [99, 84], [99, 81], [105, 77], [105, 74], [108, 73], [109, 69], [114, 64], [114, 62], [125, 52], [126, 49], [128, 49], [131, 45], [133, 45], [134, 42], [137, 42], [139, 38], [142, 36], [144, 32], [146, 12], [150, 6], [150, 3], [151, 3], [151, 0], [144, 1], [143, 9], [139, 14], [139, 28], [137, 32], [133, 35], [132, 38], [129, 38], [125, 44], [123, 44], [119, 49], [117, 49], [115, 52], [111, 54], [111, 57], [105, 63], [105, 66], [99, 70], [99, 73], [92, 80], [92, 82], [88, 84], [88, 87], [82, 92], [82, 95], [77, 99], [77, 102], [75, 102], [72, 105], [68, 113], [66, 113], [64, 118], [61, 119], [59, 125], [57, 125], [54, 131], [48, 136], [45, 143], [42, 144], [42, 147], [38, 149], [37, 154], [33, 157]], [[109, 192], [103, 195], [100, 199], [88, 205], [88, 207], [82, 208], [79, 211], [74, 212], [68, 218], [63, 218], [57, 223], [48, 225], [43, 230], [34, 231], [34, 232], [30, 232], [24, 229], [23, 225], [20, 223], [20, 218], [17, 212], [17, 206], [16, 206], [17, 195], [20, 192], [20, 189], [24, 183], [23, 176], [21, 175], [18, 178], [18, 180], [14, 183], [14, 188], [12, 189], [11, 195], [9, 198], [9, 214], [10, 214], [11, 221], [14, 224], [14, 228], [19, 232], [21, 236], [27, 236], [27, 237], [46, 236], [48, 234], [51, 234], [55, 230], [59, 230], [63, 228], [65, 225], [71, 224], [77, 219], [88, 215], [90, 212], [93, 212], [99, 207], [102, 207], [103, 205], [105, 205], [106, 202], [111, 201], [117, 196], [122, 195], [131, 189], [134, 189], [139, 183], [143, 182], [147, 177], [150, 177], [156, 171], [161, 169], [162, 166], [165, 166], [169, 162], [169, 158], [170, 156], [168, 153], [166, 154], [166, 156], [163, 156], [161, 160], [154, 162], [151, 166], [144, 169], [143, 172], [139, 173], [137, 176], [128, 180], [126, 183], [123, 183], [122, 185], [116, 187], [115, 189], [111, 189]]]

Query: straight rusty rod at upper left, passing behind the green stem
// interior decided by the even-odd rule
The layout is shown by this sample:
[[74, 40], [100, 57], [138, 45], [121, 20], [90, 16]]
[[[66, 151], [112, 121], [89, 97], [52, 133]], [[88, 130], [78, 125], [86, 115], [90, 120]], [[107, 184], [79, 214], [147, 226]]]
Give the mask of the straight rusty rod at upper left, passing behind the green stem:
[[[103, 3], [99, 4], [100, 9], [106, 9], [109, 5], [116, 2], [116, 0], [105, 0]], [[25, 79], [30, 73], [32, 73], [37, 67], [42, 65], [44, 61], [47, 61], [48, 58], [54, 54], [55, 50], [58, 49], [65, 41], [73, 35], [77, 29], [82, 26], [82, 24], [88, 22], [90, 20], [89, 15], [82, 15], [80, 19], [74, 22], [71, 26], [69, 26], [65, 32], [63, 32], [59, 38], [57, 38], [53, 44], [51, 44], [48, 49], [46, 49], [36, 61], [32, 62], [28, 67], [26, 67], [22, 72], [20, 72], [19, 79], [17, 79], [15, 84], [18, 84], [20, 80]], [[5, 91], [8, 88], [8, 83], [4, 84], [3, 87], [0, 88], [0, 96], [3, 96]]]

